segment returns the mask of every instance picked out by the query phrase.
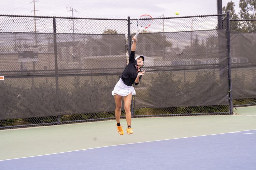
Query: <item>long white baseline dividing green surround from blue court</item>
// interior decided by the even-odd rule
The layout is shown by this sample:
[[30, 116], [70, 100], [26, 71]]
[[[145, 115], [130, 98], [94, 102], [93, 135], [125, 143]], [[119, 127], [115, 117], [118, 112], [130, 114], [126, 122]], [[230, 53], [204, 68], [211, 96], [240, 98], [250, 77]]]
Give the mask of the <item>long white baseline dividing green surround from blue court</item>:
[[[244, 130], [244, 131], [254, 131], [254, 130], [256, 130], [256, 129], [253, 129], [253, 130]], [[222, 135], [222, 134], [238, 133], [238, 132], [243, 132], [243, 131], [226, 132], [226, 133], [217, 133], [217, 134], [200, 135], [200, 136], [189, 136], [189, 137], [181, 137], [181, 138], [173, 138], [173, 139], [152, 140], [152, 141], [145, 141], [145, 142], [125, 143], [125, 144], [120, 144], [120, 145], [111, 145], [111, 146], [104, 146], [104, 147], [96, 147], [96, 148], [80, 149], [80, 150], [75, 150], [75, 151], [58, 152], [58, 153], [51, 153], [51, 154], [44, 154], [44, 155], [35, 155], [35, 156], [27, 156], [27, 157], [13, 158], [13, 159], [22, 159], [22, 158], [30, 158], [30, 157], [37, 157], [37, 156], [54, 155], [54, 154], [68, 153], [68, 152], [76, 152], [76, 151], [87, 151], [87, 150], [89, 150], [89, 149], [97, 149], [97, 148], [106, 148], [106, 147], [114, 147], [114, 146], [130, 145], [130, 144], [136, 144], [136, 143], [156, 142], [156, 141], [174, 140], [174, 139], [185, 139], [185, 138], [193, 138], [193, 137], [201, 137], [201, 136], [211, 136], [211, 135]], [[4, 160], [13, 160], [13, 159], [4, 159]], [[1, 161], [4, 161], [4, 160], [0, 160], [0, 162], [1, 162]]]

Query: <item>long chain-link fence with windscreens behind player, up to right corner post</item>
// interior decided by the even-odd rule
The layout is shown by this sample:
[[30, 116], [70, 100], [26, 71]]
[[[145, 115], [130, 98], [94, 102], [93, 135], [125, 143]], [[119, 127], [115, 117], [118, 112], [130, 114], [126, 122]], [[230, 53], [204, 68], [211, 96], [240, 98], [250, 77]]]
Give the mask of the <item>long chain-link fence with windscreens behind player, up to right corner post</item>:
[[[138, 36], [146, 73], [133, 117], [232, 114], [220, 17], [154, 18]], [[0, 15], [0, 128], [115, 119], [136, 20]]]

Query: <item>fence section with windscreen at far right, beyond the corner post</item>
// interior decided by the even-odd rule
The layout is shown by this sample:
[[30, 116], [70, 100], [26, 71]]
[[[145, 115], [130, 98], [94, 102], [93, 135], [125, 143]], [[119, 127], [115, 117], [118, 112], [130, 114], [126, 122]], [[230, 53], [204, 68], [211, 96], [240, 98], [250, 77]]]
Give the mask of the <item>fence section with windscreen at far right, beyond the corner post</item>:
[[233, 104], [256, 105], [256, 19], [230, 20]]

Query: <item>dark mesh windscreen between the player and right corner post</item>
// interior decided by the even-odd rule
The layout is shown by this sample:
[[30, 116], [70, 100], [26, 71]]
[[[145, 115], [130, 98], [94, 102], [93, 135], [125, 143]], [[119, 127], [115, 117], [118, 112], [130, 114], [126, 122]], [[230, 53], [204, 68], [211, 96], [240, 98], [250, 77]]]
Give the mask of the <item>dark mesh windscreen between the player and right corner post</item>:
[[137, 108], [228, 104], [225, 30], [141, 34], [136, 54], [146, 70]]

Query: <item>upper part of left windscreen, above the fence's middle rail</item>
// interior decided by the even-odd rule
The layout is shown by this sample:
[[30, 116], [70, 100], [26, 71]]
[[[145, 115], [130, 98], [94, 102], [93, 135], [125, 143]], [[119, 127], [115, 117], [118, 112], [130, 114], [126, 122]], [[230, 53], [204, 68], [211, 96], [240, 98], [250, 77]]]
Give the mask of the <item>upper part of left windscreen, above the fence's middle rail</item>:
[[124, 34], [57, 34], [56, 37], [54, 45], [51, 33], [1, 33], [2, 75], [54, 74], [54, 46], [57, 46], [59, 74], [120, 72], [126, 66]]

